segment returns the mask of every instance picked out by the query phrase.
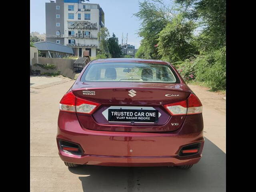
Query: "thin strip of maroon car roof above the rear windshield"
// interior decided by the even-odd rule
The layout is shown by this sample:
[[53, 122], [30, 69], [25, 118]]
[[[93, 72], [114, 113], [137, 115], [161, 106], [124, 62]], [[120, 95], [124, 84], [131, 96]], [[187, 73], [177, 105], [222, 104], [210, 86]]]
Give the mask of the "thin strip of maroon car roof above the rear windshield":
[[108, 59], [97, 59], [92, 61], [92, 63], [103, 63], [103, 62], [142, 62], [142, 63], [149, 62], [149, 63], [166, 64], [166, 62], [162, 60], [150, 60], [150, 59], [140, 59], [140, 58], [108, 58]]

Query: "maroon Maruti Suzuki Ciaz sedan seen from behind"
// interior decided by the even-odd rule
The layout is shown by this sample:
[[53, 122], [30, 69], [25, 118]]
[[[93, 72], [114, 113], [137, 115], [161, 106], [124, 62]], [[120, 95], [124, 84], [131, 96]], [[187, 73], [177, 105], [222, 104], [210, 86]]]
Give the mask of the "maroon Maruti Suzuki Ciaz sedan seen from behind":
[[178, 166], [202, 157], [202, 104], [168, 62], [90, 62], [60, 101], [66, 166]]

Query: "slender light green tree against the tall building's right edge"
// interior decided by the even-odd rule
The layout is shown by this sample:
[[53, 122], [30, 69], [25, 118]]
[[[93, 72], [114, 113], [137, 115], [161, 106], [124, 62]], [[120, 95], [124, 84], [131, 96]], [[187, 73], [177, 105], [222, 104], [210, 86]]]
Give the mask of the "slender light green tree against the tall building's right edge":
[[98, 32], [98, 40], [100, 42], [98, 53], [106, 58], [110, 58], [111, 56], [108, 50], [108, 37], [109, 37], [108, 28], [102, 27]]

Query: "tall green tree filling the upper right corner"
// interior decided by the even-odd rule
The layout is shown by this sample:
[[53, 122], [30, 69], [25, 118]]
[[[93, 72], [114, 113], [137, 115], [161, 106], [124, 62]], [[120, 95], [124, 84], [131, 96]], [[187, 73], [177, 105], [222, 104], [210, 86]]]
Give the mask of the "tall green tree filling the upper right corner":
[[226, 0], [176, 0], [183, 6], [186, 18], [199, 22], [203, 28], [198, 39], [206, 50], [226, 46]]

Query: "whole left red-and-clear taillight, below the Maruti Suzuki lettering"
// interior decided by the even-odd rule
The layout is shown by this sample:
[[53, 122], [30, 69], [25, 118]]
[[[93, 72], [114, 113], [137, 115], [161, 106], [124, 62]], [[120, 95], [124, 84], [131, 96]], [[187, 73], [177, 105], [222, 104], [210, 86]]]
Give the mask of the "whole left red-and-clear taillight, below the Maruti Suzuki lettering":
[[60, 110], [92, 114], [100, 104], [76, 97], [72, 92], [66, 93], [60, 100]]

